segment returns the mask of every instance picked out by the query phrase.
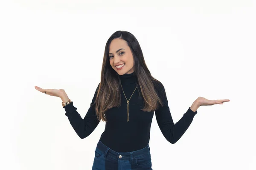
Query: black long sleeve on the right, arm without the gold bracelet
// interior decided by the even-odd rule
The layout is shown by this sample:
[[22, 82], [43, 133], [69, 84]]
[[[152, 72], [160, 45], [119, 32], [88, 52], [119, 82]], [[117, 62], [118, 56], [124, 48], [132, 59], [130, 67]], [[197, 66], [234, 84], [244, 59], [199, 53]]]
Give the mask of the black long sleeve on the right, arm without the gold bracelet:
[[155, 111], [157, 124], [167, 141], [175, 144], [186, 132], [197, 111], [193, 112], [189, 107], [182, 118], [174, 124], [163, 84], [158, 83], [156, 90], [163, 101], [163, 106], [159, 104], [159, 108]]

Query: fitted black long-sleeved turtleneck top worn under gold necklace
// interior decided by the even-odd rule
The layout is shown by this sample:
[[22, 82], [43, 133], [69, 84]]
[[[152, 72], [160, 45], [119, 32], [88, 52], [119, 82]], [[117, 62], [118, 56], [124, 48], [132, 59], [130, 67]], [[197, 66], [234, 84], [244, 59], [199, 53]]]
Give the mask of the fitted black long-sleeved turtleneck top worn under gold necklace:
[[[197, 111], [193, 112], [189, 107], [186, 113], [183, 114], [183, 117], [174, 124], [164, 86], [159, 82], [155, 83], [154, 87], [157, 94], [160, 95], [160, 99], [163, 101], [163, 106], [159, 104], [160, 106], [156, 111], [141, 111], [140, 109], [144, 107], [144, 101], [140, 92], [140, 86], [137, 86], [136, 75], [133, 72], [131, 74], [118, 76], [121, 79], [124, 91], [122, 91], [120, 85], [121, 106], [119, 108], [111, 108], [105, 112], [108, 122], [106, 122], [105, 130], [100, 137], [100, 141], [116, 152], [131, 152], [146, 147], [149, 143], [150, 127], [155, 112], [157, 124], [163, 136], [172, 144], [177, 142], [188, 129]], [[136, 86], [137, 89], [134, 92]], [[98, 88], [99, 85], [96, 88], [91, 104], [96, 99]], [[134, 94], [132, 95], [133, 92]], [[131, 97], [129, 101], [128, 122], [127, 100], [124, 93], [128, 100]], [[66, 111], [65, 115], [68, 117], [70, 124], [81, 139], [89, 136], [99, 124], [95, 112], [95, 104], [90, 106], [84, 119], [82, 119], [80, 114], [76, 111], [77, 108], [74, 107], [73, 102], [63, 108]]]

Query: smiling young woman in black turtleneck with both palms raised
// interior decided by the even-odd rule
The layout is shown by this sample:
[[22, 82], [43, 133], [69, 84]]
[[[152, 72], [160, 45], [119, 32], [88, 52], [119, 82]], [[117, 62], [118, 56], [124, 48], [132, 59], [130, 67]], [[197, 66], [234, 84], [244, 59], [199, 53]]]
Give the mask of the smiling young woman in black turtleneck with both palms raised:
[[163, 136], [174, 144], [201, 105], [230, 101], [198, 97], [174, 124], [163, 84], [151, 76], [139, 42], [127, 31], [116, 31], [106, 43], [101, 81], [84, 119], [63, 89], [35, 88], [62, 99], [65, 115], [81, 139], [89, 136], [100, 120], [106, 122], [92, 170], [152, 170], [148, 143], [154, 113]]

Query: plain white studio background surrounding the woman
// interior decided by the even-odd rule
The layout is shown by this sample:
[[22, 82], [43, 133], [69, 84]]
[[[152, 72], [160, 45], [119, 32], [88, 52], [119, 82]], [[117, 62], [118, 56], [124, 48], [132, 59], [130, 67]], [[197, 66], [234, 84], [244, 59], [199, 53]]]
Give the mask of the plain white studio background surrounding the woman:
[[[1, 170], [90, 170], [104, 131], [80, 139], [63, 88], [84, 117], [115, 31], [137, 38], [177, 122], [198, 96], [230, 99], [198, 108], [169, 143], [155, 116], [153, 170], [255, 170], [255, 0], [9, 0], [0, 3]], [[122, 128], [122, 127], [120, 127]]]

